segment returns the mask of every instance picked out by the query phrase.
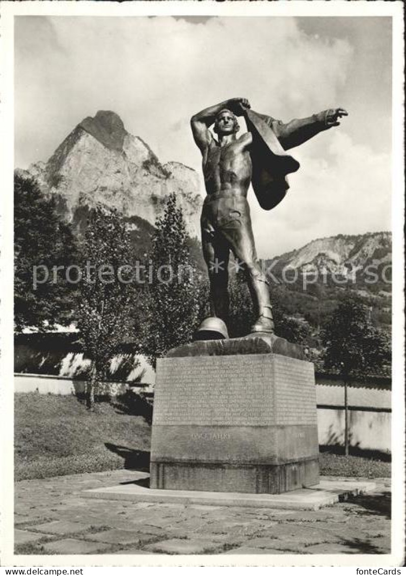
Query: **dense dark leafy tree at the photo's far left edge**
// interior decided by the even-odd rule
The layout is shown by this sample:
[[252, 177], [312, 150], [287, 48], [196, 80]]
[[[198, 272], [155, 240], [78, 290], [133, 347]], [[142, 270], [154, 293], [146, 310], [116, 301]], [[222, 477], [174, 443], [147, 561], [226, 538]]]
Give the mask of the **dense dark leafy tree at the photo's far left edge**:
[[[77, 285], [67, 268], [78, 262], [69, 224], [32, 178], [14, 174], [14, 323], [17, 331], [69, 325]], [[61, 272], [62, 270], [62, 272]]]

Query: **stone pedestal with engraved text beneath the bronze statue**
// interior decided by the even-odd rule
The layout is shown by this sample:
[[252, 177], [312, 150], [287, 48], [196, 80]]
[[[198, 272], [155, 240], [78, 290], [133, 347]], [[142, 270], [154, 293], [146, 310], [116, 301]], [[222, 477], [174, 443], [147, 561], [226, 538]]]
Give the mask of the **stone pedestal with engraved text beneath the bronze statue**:
[[318, 483], [313, 364], [272, 335], [157, 363], [151, 488], [280, 494]]

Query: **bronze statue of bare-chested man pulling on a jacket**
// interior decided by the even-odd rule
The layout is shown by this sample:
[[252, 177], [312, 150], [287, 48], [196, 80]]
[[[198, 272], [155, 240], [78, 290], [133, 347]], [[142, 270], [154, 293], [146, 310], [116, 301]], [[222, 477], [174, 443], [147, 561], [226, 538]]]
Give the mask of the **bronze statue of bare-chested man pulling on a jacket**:
[[[299, 168], [284, 150], [338, 126], [339, 118], [348, 114], [343, 108], [335, 108], [284, 124], [250, 108], [246, 98], [231, 98], [192, 116], [193, 138], [202, 152], [207, 192], [200, 220], [202, 246], [210, 279], [211, 316], [227, 321], [231, 250], [245, 271], [257, 316], [251, 332], [272, 333], [268, 282], [257, 261], [246, 200], [249, 185], [252, 183], [260, 206], [271, 210], [289, 188], [287, 174]], [[244, 116], [248, 127], [240, 138], [237, 116]], [[218, 140], [209, 130], [212, 124]], [[225, 330], [218, 332], [227, 336]]]

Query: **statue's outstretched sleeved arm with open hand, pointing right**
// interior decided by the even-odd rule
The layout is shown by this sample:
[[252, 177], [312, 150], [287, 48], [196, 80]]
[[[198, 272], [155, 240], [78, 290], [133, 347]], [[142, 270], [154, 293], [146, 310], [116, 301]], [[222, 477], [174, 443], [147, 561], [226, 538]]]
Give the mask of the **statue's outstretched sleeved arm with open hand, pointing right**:
[[271, 116], [264, 114], [260, 114], [260, 116], [274, 130], [284, 150], [289, 150], [303, 144], [319, 132], [329, 130], [333, 126], [339, 126], [339, 118], [348, 116], [348, 112], [343, 108], [330, 108], [308, 118], [291, 120], [286, 124]]

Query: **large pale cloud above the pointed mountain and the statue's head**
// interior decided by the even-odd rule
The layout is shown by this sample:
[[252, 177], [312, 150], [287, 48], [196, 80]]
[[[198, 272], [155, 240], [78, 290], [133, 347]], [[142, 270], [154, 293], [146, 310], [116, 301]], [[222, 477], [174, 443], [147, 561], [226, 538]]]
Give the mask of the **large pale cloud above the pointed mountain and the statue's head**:
[[40, 20], [17, 18], [17, 138], [35, 124], [47, 154], [84, 116], [113, 108], [163, 161], [199, 165], [189, 130], [171, 126], [240, 95], [275, 116], [327, 107], [351, 54], [343, 41], [310, 39], [294, 18]]

